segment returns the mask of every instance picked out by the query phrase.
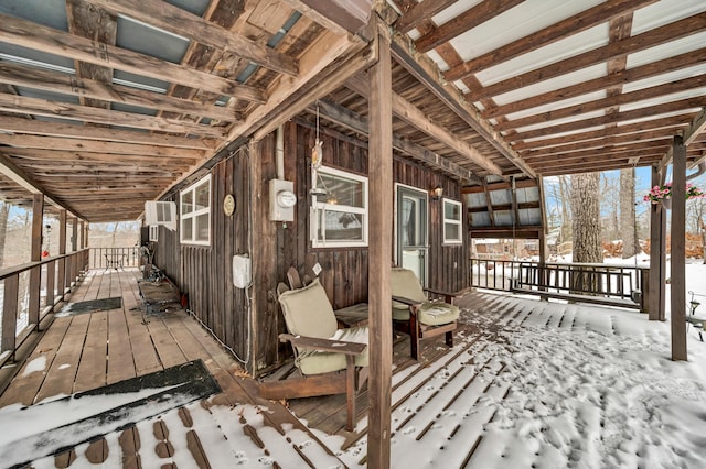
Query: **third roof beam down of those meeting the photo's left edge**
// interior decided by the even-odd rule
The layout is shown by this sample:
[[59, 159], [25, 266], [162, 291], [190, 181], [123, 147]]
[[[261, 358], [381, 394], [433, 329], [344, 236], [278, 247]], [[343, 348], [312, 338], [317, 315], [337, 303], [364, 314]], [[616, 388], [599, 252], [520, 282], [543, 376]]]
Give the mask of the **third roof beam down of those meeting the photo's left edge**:
[[111, 109], [92, 108], [69, 102], [47, 101], [40, 98], [28, 98], [0, 92], [0, 111], [17, 112], [30, 116], [79, 120], [84, 122], [120, 126], [145, 129], [158, 132], [193, 134], [221, 138], [223, 128], [206, 124], [164, 119], [132, 112], [121, 112]]

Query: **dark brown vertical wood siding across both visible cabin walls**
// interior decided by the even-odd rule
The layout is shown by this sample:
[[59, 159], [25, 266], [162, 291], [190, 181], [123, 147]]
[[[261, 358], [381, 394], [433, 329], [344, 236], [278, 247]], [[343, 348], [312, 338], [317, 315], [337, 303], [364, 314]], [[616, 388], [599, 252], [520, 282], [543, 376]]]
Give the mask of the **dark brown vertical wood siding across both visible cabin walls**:
[[[267, 216], [249, 223], [249, 190], [259, 193], [261, 214], [269, 208], [269, 181], [277, 177], [276, 142], [271, 134], [257, 143], [260, 153], [260, 181], [250, 187], [247, 149], [217, 164], [212, 170], [212, 242], [211, 247], [179, 243], [179, 231], [160, 228], [156, 263], [189, 296], [189, 307], [239, 357], [247, 355], [248, 339], [253, 357], [247, 364], [250, 372], [276, 363], [289, 356], [289, 349], [277, 336], [286, 331], [276, 297], [277, 284], [285, 281], [287, 270], [297, 268], [300, 275], [313, 276], [312, 268], [319, 263], [319, 275], [334, 308], [345, 307], [367, 299], [367, 248], [311, 248], [309, 241], [309, 206], [311, 188], [311, 148], [313, 129], [290, 122], [285, 126], [285, 178], [295, 183], [298, 204], [293, 222], [272, 222]], [[367, 148], [334, 132], [323, 132], [323, 164], [347, 172], [367, 175]], [[445, 196], [461, 200], [457, 181], [435, 174], [410, 160], [395, 156], [395, 183], [429, 190], [443, 187]], [[226, 217], [222, 209], [223, 197], [233, 194], [235, 214]], [[179, 203], [178, 195], [172, 198]], [[442, 246], [442, 204], [429, 203], [429, 286], [459, 291], [468, 283], [467, 234], [462, 246]], [[466, 216], [464, 216], [466, 223]], [[466, 226], [466, 225], [463, 225]], [[232, 259], [234, 254], [249, 253], [248, 234], [253, 232], [254, 264], [258, 276], [253, 306], [253, 331], [248, 338], [247, 298], [243, 290], [233, 286]], [[466, 230], [463, 230], [466, 231]], [[393, 260], [389, 260], [391, 264]]]

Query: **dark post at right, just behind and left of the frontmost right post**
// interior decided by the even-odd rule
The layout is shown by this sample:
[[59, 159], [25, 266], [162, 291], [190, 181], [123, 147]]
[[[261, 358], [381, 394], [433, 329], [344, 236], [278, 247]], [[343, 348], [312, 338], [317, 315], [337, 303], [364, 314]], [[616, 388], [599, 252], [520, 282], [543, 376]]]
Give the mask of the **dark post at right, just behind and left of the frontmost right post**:
[[[662, 182], [661, 171], [656, 165], [652, 165], [652, 187], [659, 186]], [[649, 305], [648, 313], [650, 320], [664, 320], [665, 298], [662, 294], [665, 279], [665, 254], [662, 249], [664, 231], [662, 230], [666, 209], [662, 204], [650, 205], [650, 284], [648, 290]]]

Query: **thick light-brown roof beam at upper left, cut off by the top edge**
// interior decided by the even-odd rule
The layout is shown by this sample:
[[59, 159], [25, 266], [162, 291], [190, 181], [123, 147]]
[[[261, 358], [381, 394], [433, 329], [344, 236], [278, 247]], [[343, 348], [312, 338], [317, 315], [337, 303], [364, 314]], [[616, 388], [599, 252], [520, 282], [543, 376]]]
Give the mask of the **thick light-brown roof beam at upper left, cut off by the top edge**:
[[297, 76], [299, 73], [299, 66], [291, 57], [167, 2], [154, 0], [87, 1], [201, 44], [225, 50], [270, 70], [290, 76]]

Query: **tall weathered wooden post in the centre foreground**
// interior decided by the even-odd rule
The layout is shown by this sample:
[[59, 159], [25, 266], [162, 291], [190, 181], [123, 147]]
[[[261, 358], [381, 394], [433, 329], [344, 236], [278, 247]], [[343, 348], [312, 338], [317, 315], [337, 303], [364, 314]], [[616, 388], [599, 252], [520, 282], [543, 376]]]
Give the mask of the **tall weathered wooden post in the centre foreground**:
[[373, 19], [378, 61], [368, 72], [370, 99], [370, 391], [367, 466], [389, 468], [392, 401], [393, 112], [387, 29]]

